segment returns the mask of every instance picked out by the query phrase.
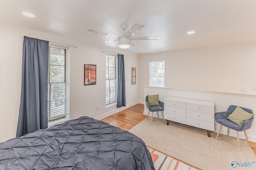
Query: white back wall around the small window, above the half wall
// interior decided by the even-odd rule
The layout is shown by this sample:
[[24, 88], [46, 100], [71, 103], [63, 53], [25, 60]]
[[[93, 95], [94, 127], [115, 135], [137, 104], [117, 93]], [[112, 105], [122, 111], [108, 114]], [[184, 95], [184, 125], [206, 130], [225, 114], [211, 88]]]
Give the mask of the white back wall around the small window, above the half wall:
[[140, 55], [139, 100], [149, 85], [149, 61], [159, 59], [165, 60], [165, 87], [255, 93], [255, 55], [255, 42]]

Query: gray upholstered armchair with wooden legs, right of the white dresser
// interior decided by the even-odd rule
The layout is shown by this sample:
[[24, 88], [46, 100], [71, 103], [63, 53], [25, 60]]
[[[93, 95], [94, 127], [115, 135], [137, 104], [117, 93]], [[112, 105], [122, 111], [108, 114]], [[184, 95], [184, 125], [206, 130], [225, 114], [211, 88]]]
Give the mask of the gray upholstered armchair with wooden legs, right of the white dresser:
[[[222, 111], [222, 112], [215, 113], [214, 118], [215, 118], [216, 122], [220, 124], [220, 128], [219, 128], [218, 134], [216, 136], [216, 139], [218, 138], [218, 136], [220, 134], [220, 129], [221, 129], [222, 125], [228, 127], [228, 135], [229, 135], [229, 129], [230, 128], [234, 129], [234, 130], [236, 130], [237, 141], [238, 141], [238, 148], [240, 149], [238, 131], [244, 131], [244, 135], [245, 135], [246, 140], [247, 140], [247, 142], [249, 144], [248, 137], [247, 137], [247, 134], [246, 134], [245, 130], [250, 129], [250, 127], [252, 126], [253, 117], [251, 119], [249, 119], [249, 120], [244, 121], [241, 124], [241, 126], [239, 126], [236, 123], [233, 123], [232, 121], [226, 119], [236, 109], [236, 107], [237, 106], [231, 105], [231, 106], [228, 107], [227, 111]], [[241, 107], [241, 108], [244, 111], [247, 111], [248, 113], [253, 114], [251, 109], [247, 109], [247, 108], [244, 108], [244, 107]]]

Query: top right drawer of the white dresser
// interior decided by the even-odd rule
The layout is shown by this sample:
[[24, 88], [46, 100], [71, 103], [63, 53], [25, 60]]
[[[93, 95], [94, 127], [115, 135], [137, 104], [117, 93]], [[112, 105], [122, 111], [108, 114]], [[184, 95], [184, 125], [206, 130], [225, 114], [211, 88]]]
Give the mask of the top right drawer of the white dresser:
[[186, 104], [186, 108], [187, 108], [187, 110], [199, 111], [199, 112], [203, 112], [203, 113], [214, 114], [214, 106], [210, 106], [210, 105], [187, 103]]

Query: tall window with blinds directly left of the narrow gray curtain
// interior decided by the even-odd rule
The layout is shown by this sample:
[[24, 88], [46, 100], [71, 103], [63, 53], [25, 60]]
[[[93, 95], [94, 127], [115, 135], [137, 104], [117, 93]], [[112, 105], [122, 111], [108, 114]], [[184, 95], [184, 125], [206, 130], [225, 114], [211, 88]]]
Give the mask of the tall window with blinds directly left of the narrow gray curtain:
[[106, 106], [117, 101], [117, 56], [106, 55]]

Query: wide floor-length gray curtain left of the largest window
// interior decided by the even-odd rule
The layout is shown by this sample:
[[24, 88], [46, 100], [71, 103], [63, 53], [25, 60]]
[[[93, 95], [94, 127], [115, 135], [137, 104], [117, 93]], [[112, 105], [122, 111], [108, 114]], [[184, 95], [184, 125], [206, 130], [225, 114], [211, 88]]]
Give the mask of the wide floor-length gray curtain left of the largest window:
[[20, 112], [16, 137], [48, 127], [49, 42], [24, 37]]

